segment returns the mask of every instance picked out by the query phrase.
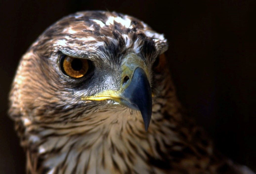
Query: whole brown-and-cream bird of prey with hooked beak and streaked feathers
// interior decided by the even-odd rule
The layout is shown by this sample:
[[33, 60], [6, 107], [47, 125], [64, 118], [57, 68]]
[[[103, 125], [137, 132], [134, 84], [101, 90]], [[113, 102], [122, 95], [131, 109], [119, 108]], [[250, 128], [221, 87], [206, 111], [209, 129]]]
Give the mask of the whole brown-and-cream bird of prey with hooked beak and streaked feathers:
[[183, 114], [167, 47], [116, 12], [77, 12], [46, 29], [9, 94], [27, 173], [253, 173]]

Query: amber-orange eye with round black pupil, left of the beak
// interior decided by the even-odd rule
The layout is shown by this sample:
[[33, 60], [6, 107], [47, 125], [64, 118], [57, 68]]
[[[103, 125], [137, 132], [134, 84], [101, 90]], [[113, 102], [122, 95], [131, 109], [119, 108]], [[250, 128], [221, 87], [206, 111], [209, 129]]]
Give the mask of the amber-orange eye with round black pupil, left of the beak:
[[62, 56], [60, 58], [60, 67], [62, 72], [69, 77], [80, 78], [87, 73], [89, 69], [89, 61], [87, 59]]

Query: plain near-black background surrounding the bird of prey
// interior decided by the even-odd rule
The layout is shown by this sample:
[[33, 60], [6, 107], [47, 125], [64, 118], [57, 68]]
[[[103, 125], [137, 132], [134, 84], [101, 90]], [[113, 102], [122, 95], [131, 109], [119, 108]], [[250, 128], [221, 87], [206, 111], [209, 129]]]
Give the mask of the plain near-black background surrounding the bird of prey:
[[1, 1], [0, 173], [23, 173], [25, 154], [7, 116], [20, 57], [49, 25], [81, 10], [135, 16], [164, 33], [177, 95], [217, 148], [256, 171], [254, 1]]

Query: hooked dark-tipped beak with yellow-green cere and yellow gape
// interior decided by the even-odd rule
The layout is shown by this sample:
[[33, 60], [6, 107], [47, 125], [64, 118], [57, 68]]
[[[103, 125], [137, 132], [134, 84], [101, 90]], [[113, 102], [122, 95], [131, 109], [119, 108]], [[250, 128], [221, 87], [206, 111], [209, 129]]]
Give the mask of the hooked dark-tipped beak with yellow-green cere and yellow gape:
[[135, 54], [126, 57], [122, 65], [122, 84], [119, 91], [103, 91], [82, 100], [114, 100], [121, 105], [141, 112], [145, 130], [152, 115], [152, 92], [144, 61]]

